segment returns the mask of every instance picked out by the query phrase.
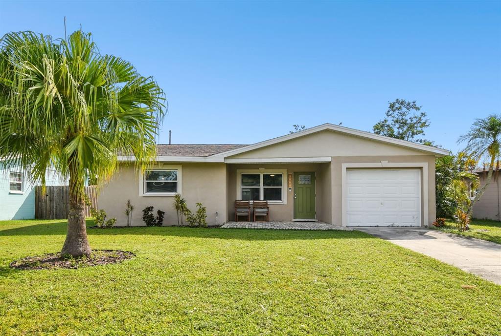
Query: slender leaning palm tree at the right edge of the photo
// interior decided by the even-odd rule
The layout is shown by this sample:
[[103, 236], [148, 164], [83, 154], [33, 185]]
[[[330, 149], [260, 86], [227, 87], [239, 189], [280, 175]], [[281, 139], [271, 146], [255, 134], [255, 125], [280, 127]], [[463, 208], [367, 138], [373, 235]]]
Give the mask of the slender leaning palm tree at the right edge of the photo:
[[467, 214], [471, 213], [473, 206], [480, 199], [483, 192], [489, 185], [492, 179], [494, 163], [499, 159], [501, 153], [501, 115], [491, 114], [484, 119], [475, 119], [475, 122], [470, 127], [467, 134], [461, 135], [457, 140], [458, 143], [466, 142], [464, 151], [471, 153], [473, 157], [480, 159], [487, 157], [489, 159], [489, 170], [485, 184], [478, 190], [471, 206], [469, 206]]

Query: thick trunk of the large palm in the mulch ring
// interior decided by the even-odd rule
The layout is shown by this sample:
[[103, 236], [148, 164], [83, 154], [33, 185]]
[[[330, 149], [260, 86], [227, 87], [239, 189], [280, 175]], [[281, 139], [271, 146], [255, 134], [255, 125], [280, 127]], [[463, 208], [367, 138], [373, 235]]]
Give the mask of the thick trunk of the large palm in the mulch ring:
[[68, 231], [61, 250], [63, 255], [90, 255], [91, 246], [87, 240], [85, 225], [84, 180], [70, 169], [70, 204], [68, 206]]

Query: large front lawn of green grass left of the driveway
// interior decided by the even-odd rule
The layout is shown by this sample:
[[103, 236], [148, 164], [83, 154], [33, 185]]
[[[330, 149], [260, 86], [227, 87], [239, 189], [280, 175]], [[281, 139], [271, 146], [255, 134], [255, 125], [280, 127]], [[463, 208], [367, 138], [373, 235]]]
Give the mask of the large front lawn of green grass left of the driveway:
[[54, 220], [0, 222], [1, 335], [501, 330], [501, 286], [360, 231], [89, 229], [93, 248], [136, 257], [80, 269], [9, 267], [58, 251], [65, 230]]

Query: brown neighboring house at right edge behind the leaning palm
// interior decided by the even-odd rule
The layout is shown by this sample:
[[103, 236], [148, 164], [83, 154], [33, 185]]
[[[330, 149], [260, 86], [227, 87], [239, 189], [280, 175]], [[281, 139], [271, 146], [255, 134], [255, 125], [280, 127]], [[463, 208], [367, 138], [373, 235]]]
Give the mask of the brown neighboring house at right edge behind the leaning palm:
[[[480, 186], [478, 187], [478, 189], [480, 189], [485, 184], [488, 169], [475, 169], [474, 172], [480, 179]], [[489, 185], [487, 185], [485, 192], [473, 207], [473, 218], [501, 220], [499, 217], [499, 210], [501, 208], [501, 189], [499, 188], [498, 174], [499, 171], [494, 171], [494, 175]]]

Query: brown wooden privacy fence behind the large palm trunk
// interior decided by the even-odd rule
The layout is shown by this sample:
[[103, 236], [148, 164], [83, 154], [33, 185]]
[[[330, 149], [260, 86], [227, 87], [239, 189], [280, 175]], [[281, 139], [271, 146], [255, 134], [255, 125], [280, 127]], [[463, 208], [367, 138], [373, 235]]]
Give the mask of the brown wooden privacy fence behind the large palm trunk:
[[[69, 203], [68, 185], [48, 185], [45, 193], [42, 186], [35, 187], [35, 218], [38, 219], [66, 219], [68, 218]], [[95, 185], [86, 186], [85, 194], [89, 197], [92, 207], [97, 209], [97, 189]], [[85, 216], [90, 217], [91, 209], [85, 207]]]

